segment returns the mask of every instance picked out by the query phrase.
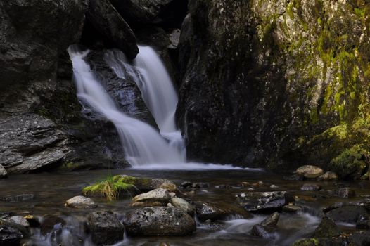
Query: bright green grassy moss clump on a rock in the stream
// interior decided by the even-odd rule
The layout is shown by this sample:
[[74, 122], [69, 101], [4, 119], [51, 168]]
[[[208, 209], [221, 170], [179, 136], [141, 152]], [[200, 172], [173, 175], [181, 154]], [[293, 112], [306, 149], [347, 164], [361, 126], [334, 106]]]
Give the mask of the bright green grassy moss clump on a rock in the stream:
[[102, 196], [112, 201], [117, 200], [123, 193], [131, 194], [133, 190], [137, 190], [136, 186], [123, 182], [117, 176], [108, 176], [93, 186], [85, 187], [82, 190], [82, 194], [87, 196]]

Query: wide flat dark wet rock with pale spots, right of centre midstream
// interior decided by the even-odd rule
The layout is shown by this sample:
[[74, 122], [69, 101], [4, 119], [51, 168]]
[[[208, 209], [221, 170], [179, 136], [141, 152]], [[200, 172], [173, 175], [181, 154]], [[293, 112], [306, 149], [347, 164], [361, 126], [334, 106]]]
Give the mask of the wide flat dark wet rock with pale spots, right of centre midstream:
[[236, 198], [249, 212], [276, 212], [294, 202], [293, 196], [286, 191], [239, 193]]

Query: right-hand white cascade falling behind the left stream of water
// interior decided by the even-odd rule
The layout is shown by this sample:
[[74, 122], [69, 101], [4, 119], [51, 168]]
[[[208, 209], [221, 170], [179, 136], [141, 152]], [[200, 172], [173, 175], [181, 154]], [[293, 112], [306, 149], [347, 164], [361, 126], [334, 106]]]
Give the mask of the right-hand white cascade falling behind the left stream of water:
[[178, 148], [185, 158], [184, 140], [174, 121], [178, 98], [170, 75], [153, 48], [139, 46], [139, 51], [133, 65], [119, 50], [106, 51], [105, 60], [118, 77], [136, 82], [143, 101], [158, 124], [160, 134], [170, 141], [170, 145]]

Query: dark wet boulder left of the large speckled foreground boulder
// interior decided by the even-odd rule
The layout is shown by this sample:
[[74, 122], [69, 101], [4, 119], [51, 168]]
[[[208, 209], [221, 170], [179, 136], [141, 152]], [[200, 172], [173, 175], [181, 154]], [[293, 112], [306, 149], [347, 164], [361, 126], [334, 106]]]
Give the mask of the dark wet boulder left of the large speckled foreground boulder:
[[94, 212], [87, 217], [92, 240], [97, 245], [113, 245], [123, 240], [125, 228], [112, 212]]

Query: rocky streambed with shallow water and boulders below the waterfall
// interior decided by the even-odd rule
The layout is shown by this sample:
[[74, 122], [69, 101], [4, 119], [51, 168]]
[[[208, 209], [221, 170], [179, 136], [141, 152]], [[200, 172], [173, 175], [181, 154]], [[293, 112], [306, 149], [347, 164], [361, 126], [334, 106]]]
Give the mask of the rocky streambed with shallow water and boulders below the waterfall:
[[[296, 174], [117, 169], [109, 174], [135, 177], [136, 189], [112, 201], [86, 190], [82, 194], [108, 171], [0, 180], [0, 245], [369, 243], [368, 181], [328, 181], [328, 174], [323, 181], [306, 169]], [[310, 174], [315, 178], [307, 178]]]

